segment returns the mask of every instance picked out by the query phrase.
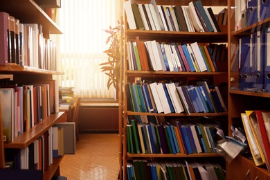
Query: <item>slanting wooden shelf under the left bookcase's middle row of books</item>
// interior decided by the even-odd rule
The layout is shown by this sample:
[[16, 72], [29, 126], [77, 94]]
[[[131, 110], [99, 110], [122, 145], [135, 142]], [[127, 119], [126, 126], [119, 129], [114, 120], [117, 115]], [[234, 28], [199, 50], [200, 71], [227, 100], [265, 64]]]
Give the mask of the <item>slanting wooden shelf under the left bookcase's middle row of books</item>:
[[4, 143], [4, 147], [17, 149], [27, 147], [28, 145], [30, 145], [30, 143], [35, 141], [35, 139], [44, 134], [44, 132], [46, 132], [48, 128], [53, 126], [53, 124], [55, 124], [58, 118], [60, 118], [63, 114], [64, 112], [51, 114], [51, 116], [32, 127], [28, 132], [24, 132], [24, 134], [17, 136], [12, 143]]

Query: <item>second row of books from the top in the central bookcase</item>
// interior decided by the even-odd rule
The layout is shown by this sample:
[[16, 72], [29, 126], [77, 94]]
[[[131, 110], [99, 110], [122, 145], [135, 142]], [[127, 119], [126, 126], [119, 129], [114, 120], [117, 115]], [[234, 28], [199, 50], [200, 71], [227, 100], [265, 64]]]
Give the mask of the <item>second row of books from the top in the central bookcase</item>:
[[216, 72], [215, 60], [224, 60], [223, 57], [226, 57], [225, 44], [165, 44], [156, 40], [141, 42], [138, 36], [135, 39], [135, 42], [127, 42], [129, 70]]

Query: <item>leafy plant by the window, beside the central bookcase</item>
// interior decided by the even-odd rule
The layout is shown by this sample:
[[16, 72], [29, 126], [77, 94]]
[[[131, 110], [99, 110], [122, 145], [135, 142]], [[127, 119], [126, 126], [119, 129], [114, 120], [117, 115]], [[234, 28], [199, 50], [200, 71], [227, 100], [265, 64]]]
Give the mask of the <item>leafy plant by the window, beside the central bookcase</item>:
[[109, 44], [109, 48], [104, 51], [108, 55], [108, 61], [99, 64], [102, 72], [109, 76], [107, 81], [107, 88], [113, 85], [118, 90], [118, 80], [120, 79], [120, 59], [121, 59], [121, 45], [120, 38], [122, 38], [122, 26], [118, 21], [118, 26], [115, 28], [109, 27], [105, 32], [109, 33], [106, 44]]

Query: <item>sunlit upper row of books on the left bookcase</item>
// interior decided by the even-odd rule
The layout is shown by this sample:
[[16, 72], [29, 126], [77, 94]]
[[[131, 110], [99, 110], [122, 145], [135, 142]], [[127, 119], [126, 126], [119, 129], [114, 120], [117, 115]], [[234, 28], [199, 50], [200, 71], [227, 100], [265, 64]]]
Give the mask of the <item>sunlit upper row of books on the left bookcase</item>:
[[56, 44], [44, 38], [42, 25], [21, 24], [7, 12], [0, 12], [0, 24], [0, 65], [56, 71]]

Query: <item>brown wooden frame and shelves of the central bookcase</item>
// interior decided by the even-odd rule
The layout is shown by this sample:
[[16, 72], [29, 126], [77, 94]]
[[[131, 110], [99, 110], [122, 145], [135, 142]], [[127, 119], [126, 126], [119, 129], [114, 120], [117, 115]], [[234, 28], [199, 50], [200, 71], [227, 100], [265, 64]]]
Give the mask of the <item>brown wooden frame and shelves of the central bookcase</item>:
[[[134, 0], [132, 3], [151, 3], [151, 1], [143, 1], [143, 0]], [[176, 0], [156, 0], [157, 5], [171, 5], [171, 6], [188, 6], [188, 3], [190, 1], [184, 0], [184, 1], [176, 1]], [[205, 1], [201, 0], [201, 3], [203, 6], [224, 6], [227, 7], [227, 1]], [[125, 10], [124, 10], [125, 14]], [[183, 31], [165, 31], [165, 30], [131, 30], [128, 27], [127, 17], [125, 16], [124, 21], [124, 46], [127, 44], [127, 42], [131, 41], [134, 42], [136, 36], [139, 37], [141, 42], [146, 42], [150, 40], [156, 40], [156, 42], [163, 42], [163, 43], [183, 43], [183, 44], [190, 44], [192, 42], [198, 42], [198, 44], [213, 44], [213, 43], [228, 43], [228, 26], [222, 26], [221, 32], [216, 33], [199, 33], [199, 32], [183, 32]], [[222, 112], [222, 113], [170, 113], [170, 114], [163, 114], [163, 113], [148, 113], [148, 112], [135, 112], [130, 111], [127, 109], [127, 104], [129, 104], [129, 96], [127, 95], [128, 84], [135, 82], [139, 78], [143, 80], [143, 78], [147, 80], [150, 80], [150, 82], [155, 82], [155, 80], [170, 80], [177, 82], [181, 81], [183, 84], [186, 82], [192, 81], [192, 80], [199, 80], [201, 79], [208, 79], [211, 80], [213, 84], [218, 84], [219, 82], [225, 82], [228, 83], [228, 62], [225, 60], [224, 62], [221, 62], [219, 66], [221, 69], [218, 72], [170, 72], [170, 71], [136, 71], [136, 70], [129, 70], [128, 68], [128, 60], [127, 60], [127, 47], [124, 48], [124, 69], [123, 69], [123, 154], [121, 155], [121, 166], [123, 169], [123, 172], [120, 173], [120, 179], [127, 179], [127, 161], [131, 161], [133, 159], [143, 159], [143, 160], [156, 160], [156, 159], [166, 159], [166, 161], [170, 158], [174, 160], [181, 160], [181, 159], [204, 159], [204, 158], [220, 158], [222, 161], [222, 156], [220, 154], [215, 153], [199, 153], [199, 154], [130, 154], [127, 152], [127, 119], [134, 116], [156, 116], [156, 117], [164, 117], [167, 118], [186, 118], [186, 117], [194, 117], [194, 118], [200, 118], [207, 116], [209, 118], [218, 118], [221, 123], [224, 123], [227, 125], [228, 123], [228, 111]], [[219, 69], [219, 68], [217, 68]], [[153, 80], [153, 81], [151, 81]], [[227, 93], [228, 91], [226, 91]], [[225, 126], [226, 127], [226, 126]], [[224, 129], [224, 132], [227, 132], [227, 129]], [[170, 160], [168, 160], [170, 161]]]

